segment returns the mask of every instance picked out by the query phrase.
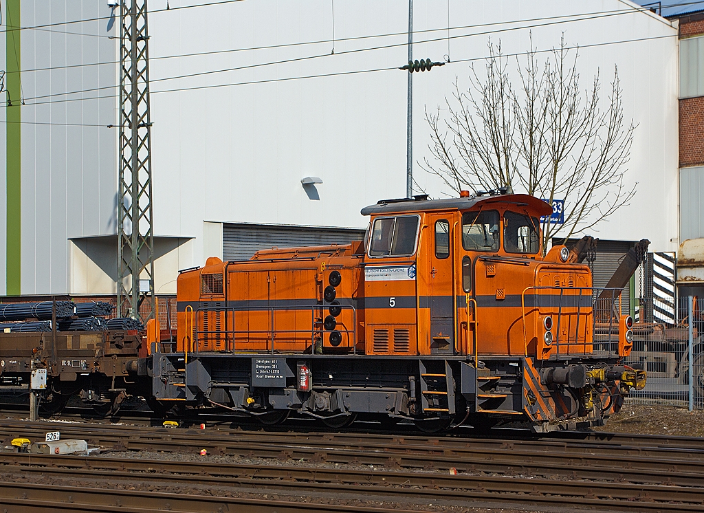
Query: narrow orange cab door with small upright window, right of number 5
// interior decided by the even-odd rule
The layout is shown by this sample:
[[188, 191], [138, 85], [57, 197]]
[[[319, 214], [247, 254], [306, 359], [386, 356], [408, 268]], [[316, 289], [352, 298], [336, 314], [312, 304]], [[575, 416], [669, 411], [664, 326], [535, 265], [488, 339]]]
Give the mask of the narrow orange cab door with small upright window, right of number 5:
[[453, 294], [452, 217], [432, 215], [433, 243], [429, 251], [430, 353], [455, 353], [455, 298]]

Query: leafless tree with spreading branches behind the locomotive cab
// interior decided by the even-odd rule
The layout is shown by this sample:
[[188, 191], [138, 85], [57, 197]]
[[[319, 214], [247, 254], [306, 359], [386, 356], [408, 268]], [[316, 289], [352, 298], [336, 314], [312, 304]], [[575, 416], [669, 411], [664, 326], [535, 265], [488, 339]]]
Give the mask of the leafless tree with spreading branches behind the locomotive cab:
[[564, 38], [545, 63], [538, 54], [531, 43], [524, 62], [516, 59], [515, 90], [510, 59], [500, 43], [489, 42], [486, 78], [472, 67], [467, 91], [455, 82], [446, 118], [440, 108], [426, 109], [433, 158], [420, 165], [457, 192], [508, 187], [551, 204], [564, 201], [564, 223], [543, 223], [546, 248], [553, 237], [568, 239], [629, 203], [636, 185], [628, 189], [624, 173], [634, 125], [624, 123], [617, 68], [602, 109], [599, 75], [589, 89], [580, 89], [579, 52], [568, 49]]

